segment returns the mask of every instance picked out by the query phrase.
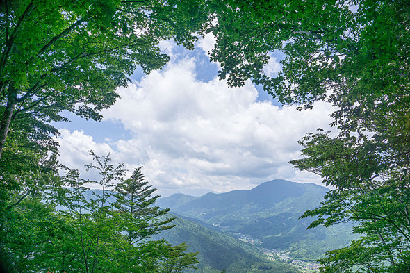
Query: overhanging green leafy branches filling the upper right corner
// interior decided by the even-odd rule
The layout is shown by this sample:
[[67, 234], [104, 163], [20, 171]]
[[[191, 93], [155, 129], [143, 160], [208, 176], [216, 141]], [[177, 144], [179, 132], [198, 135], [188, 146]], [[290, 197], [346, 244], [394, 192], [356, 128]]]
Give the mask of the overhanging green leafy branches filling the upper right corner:
[[[208, 31], [217, 44], [211, 58], [221, 62], [220, 77], [231, 86], [252, 78], [279, 101], [308, 106], [334, 89], [341, 104], [366, 101], [361, 111], [379, 99], [407, 94], [406, 1], [215, 0], [213, 5]], [[278, 76], [270, 78], [263, 65], [275, 50], [286, 58]]]

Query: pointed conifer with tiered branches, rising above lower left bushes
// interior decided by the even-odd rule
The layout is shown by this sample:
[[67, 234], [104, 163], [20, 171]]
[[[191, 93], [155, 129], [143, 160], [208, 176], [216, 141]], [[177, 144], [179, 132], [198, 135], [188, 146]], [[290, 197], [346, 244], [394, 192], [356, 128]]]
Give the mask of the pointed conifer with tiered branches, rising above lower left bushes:
[[171, 229], [170, 224], [175, 218], [170, 217], [160, 220], [170, 210], [162, 210], [154, 206], [159, 195], [152, 197], [156, 189], [147, 185], [141, 173], [142, 167], [134, 169], [131, 177], [121, 181], [115, 186], [113, 196], [116, 198], [113, 206], [126, 219], [126, 234], [130, 244], [147, 239], [160, 231]]

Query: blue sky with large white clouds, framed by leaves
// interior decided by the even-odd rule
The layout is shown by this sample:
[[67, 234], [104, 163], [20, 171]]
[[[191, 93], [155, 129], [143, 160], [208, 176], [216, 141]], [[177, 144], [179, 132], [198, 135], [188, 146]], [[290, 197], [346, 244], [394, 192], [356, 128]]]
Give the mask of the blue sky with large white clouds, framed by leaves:
[[[101, 112], [104, 121], [86, 121], [66, 113], [71, 122], [56, 122], [60, 131], [60, 163], [85, 172], [92, 160], [110, 153], [130, 174], [142, 173], [163, 197], [177, 192], [251, 189], [272, 179], [322, 185], [319, 176], [294, 169], [290, 160], [301, 158], [297, 143], [318, 128], [331, 130], [331, 105], [315, 102], [312, 110], [281, 106], [260, 86], [247, 81], [228, 88], [217, 78], [218, 63], [209, 61], [210, 34], [193, 51], [161, 42], [171, 60], [148, 75], [137, 69], [128, 88], [118, 88], [119, 99]], [[270, 54], [265, 74], [277, 75], [280, 52]]]

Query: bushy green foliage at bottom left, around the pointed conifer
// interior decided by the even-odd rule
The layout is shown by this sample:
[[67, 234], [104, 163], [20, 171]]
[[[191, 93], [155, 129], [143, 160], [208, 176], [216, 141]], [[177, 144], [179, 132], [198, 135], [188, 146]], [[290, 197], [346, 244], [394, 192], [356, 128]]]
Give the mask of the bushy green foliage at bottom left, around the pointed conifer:
[[[119, 212], [110, 200], [113, 204], [121, 201], [110, 190], [115, 181], [122, 180], [125, 170], [122, 164], [112, 164], [109, 156], [90, 153], [95, 163], [90, 163], [88, 169], [97, 169], [99, 181], [81, 179], [79, 171], [65, 168], [65, 176], [60, 177], [64, 187], [48, 188], [39, 195], [41, 199], [30, 196], [18, 203], [9, 201], [13, 206], [1, 207], [1, 263], [8, 272], [159, 273], [193, 268], [197, 253], [187, 253], [185, 245], [142, 240], [162, 230], [163, 226], [151, 229], [152, 223], [172, 220], [158, 219], [167, 210], [146, 207], [138, 218]], [[102, 190], [88, 199], [85, 183], [97, 183]], [[131, 205], [148, 200], [151, 206], [156, 199], [151, 199], [152, 192], [154, 189], [140, 196], [140, 203]], [[142, 234], [138, 240], [130, 240], [131, 226], [133, 233]]]

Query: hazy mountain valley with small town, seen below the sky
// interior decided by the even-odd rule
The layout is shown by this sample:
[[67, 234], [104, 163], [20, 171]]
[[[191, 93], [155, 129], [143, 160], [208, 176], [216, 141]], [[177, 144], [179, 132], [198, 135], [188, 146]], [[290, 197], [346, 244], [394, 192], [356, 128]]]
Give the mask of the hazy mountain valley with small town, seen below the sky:
[[196, 272], [317, 272], [316, 259], [353, 238], [348, 224], [306, 230], [313, 219], [299, 219], [325, 192], [320, 185], [273, 180], [252, 190], [171, 195], [157, 205], [171, 209], [176, 226], [156, 238], [200, 251]]

